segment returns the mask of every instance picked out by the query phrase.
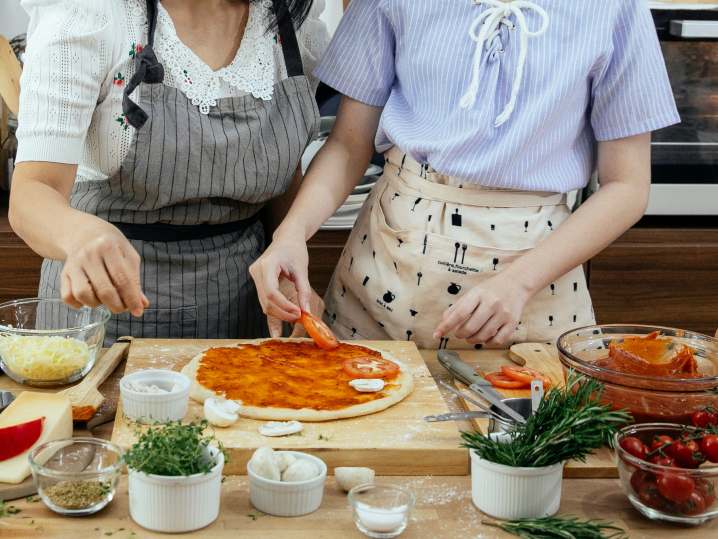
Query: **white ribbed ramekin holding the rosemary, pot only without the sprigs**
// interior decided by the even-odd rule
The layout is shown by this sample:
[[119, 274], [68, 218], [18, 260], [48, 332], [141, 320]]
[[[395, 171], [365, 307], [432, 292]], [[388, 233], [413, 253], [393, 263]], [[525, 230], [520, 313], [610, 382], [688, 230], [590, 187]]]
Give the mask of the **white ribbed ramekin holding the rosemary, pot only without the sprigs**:
[[500, 519], [541, 518], [556, 514], [561, 502], [563, 464], [514, 468], [495, 464], [471, 451], [471, 499]]

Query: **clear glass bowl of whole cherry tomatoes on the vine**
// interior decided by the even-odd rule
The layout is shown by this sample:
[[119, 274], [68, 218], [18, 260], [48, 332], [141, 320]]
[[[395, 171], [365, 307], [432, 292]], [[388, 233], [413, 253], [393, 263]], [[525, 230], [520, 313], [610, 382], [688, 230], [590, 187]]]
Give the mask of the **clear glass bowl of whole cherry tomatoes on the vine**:
[[715, 412], [696, 411], [697, 425], [692, 427], [644, 423], [616, 434], [621, 484], [633, 506], [648, 518], [702, 524], [718, 516]]

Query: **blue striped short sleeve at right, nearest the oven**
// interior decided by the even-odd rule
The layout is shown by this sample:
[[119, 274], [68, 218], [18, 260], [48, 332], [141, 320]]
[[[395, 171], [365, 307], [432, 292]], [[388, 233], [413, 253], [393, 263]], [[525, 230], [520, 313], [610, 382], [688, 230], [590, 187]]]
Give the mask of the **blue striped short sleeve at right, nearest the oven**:
[[620, 0], [612, 42], [612, 54], [592, 86], [596, 139], [628, 137], [680, 122], [645, 0]]

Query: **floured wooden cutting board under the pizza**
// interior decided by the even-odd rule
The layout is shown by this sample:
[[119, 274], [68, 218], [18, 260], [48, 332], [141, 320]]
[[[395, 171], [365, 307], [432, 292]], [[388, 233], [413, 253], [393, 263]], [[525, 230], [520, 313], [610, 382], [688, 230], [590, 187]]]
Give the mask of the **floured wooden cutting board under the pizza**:
[[[198, 353], [236, 340], [135, 339], [127, 357], [126, 374], [145, 369], [179, 371]], [[469, 453], [462, 449], [454, 422], [426, 423], [424, 416], [447, 413], [444, 399], [412, 342], [352, 341], [386, 350], [414, 376], [414, 391], [394, 406], [362, 417], [304, 423], [302, 436], [269, 438], [258, 432], [266, 421], [240, 418], [229, 428], [216, 429], [231, 460], [228, 474], [246, 474], [247, 462], [261, 446], [303, 451], [321, 458], [329, 473], [337, 466], [366, 466], [377, 475], [465, 475]], [[190, 399], [185, 421], [204, 417], [203, 406]], [[122, 418], [122, 401], [112, 441], [129, 448], [134, 431]]]

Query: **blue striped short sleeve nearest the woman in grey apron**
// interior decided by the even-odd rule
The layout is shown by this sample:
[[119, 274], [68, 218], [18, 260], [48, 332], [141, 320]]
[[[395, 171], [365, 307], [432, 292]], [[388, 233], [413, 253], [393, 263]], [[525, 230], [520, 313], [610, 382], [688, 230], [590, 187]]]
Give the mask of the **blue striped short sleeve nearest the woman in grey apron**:
[[394, 84], [395, 36], [385, 0], [352, 0], [314, 76], [344, 95], [382, 107]]

